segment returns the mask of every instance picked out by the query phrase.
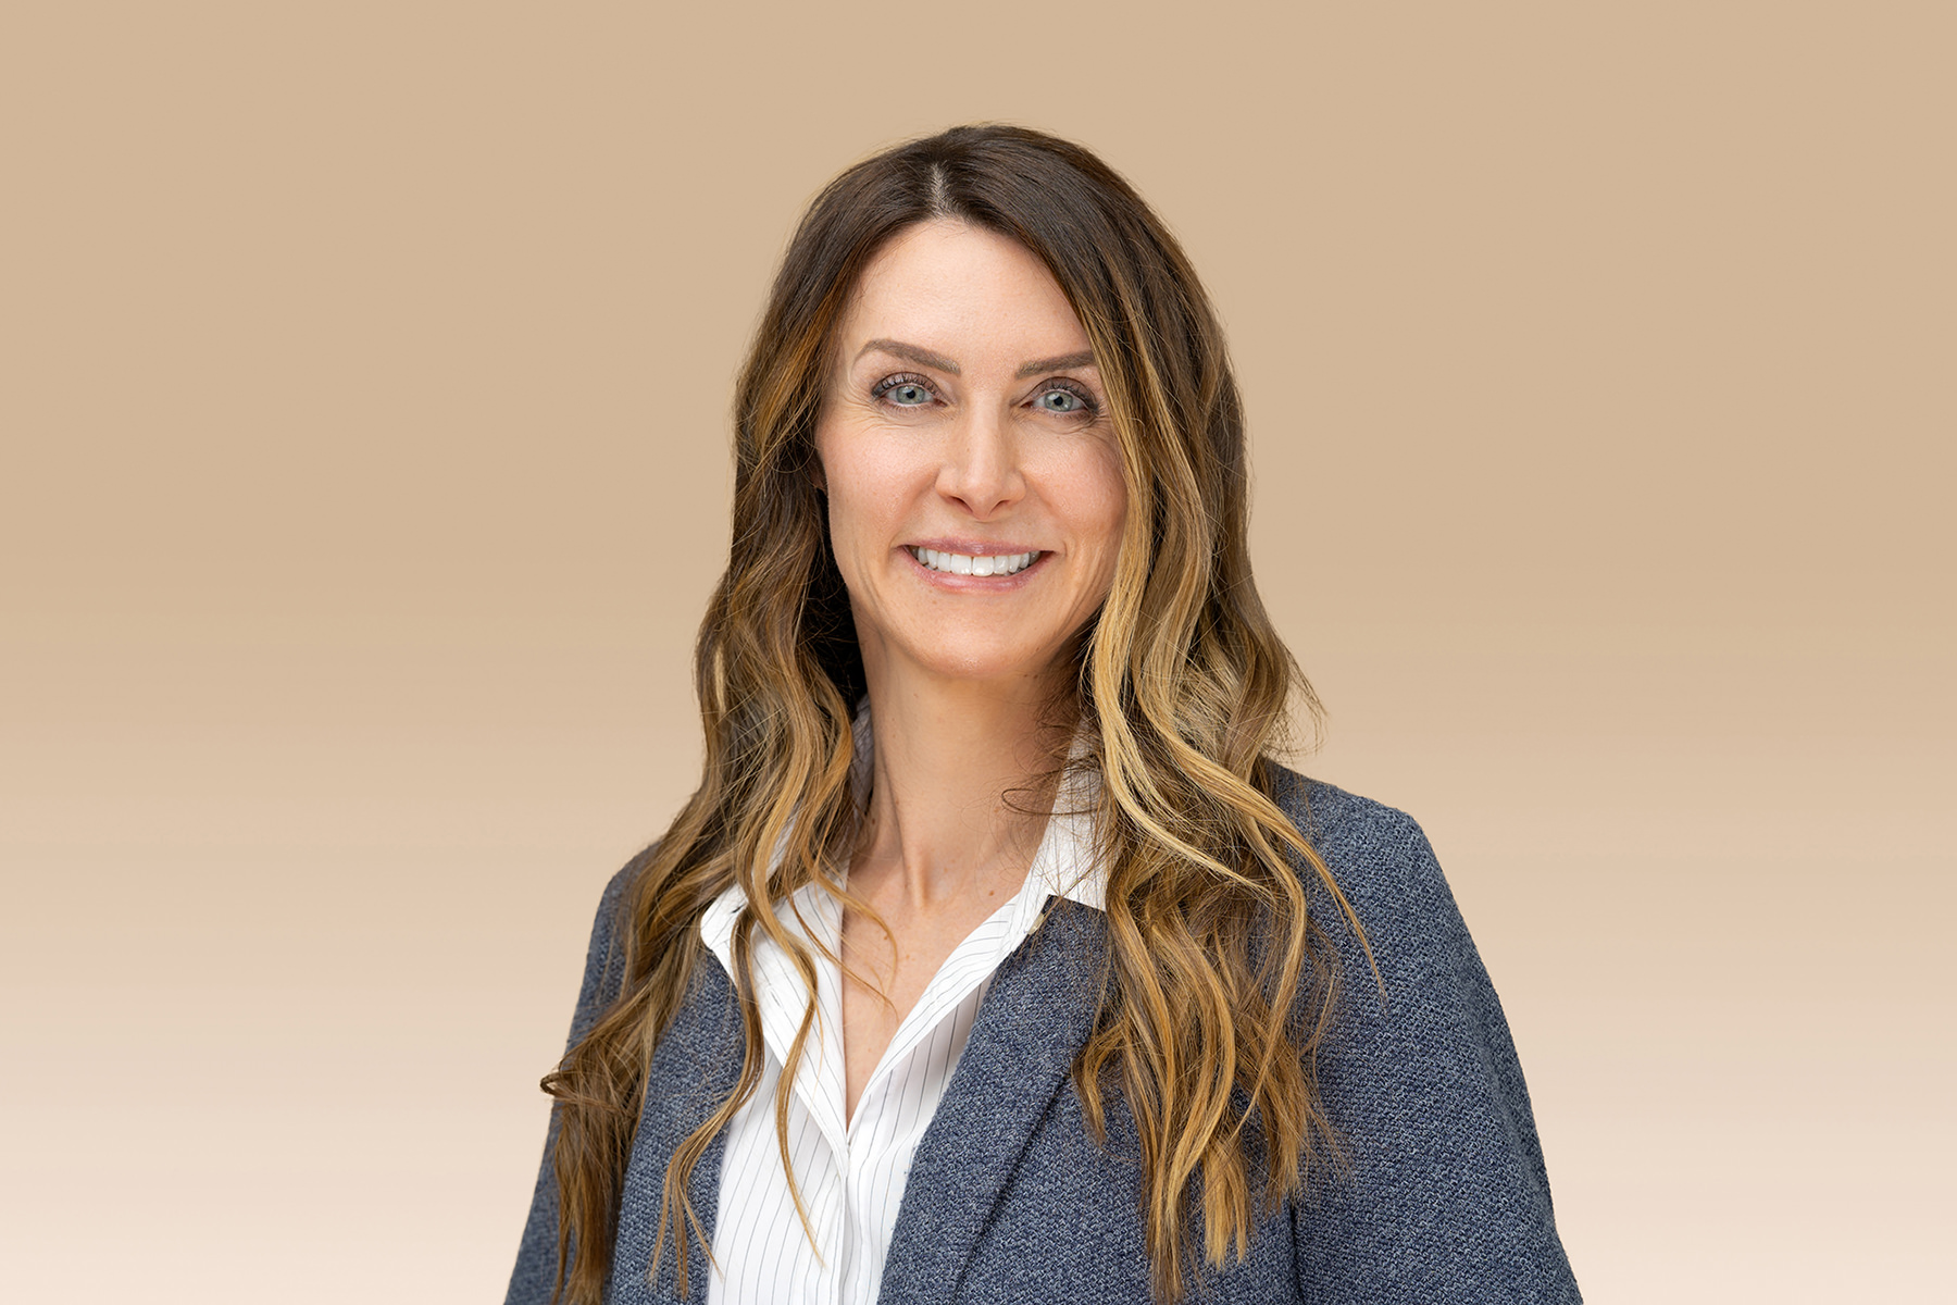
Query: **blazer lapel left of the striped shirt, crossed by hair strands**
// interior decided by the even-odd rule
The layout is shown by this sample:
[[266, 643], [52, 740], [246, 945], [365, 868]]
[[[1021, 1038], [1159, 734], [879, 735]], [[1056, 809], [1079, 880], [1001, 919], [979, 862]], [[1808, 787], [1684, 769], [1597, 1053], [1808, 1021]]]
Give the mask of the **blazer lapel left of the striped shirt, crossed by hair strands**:
[[[671, 1027], [660, 1037], [652, 1062], [646, 1066], [646, 1109], [638, 1121], [638, 1141], [624, 1176], [624, 1199], [618, 1209], [618, 1240], [613, 1250], [613, 1278], [607, 1299], [613, 1305], [679, 1305], [681, 1299], [701, 1305], [706, 1299], [706, 1276], [712, 1272], [699, 1242], [687, 1248], [687, 1297], [679, 1295], [679, 1260], [673, 1237], [660, 1246], [660, 1262], [652, 1248], [660, 1233], [660, 1201], [665, 1193], [665, 1164], [679, 1145], [693, 1135], [714, 1109], [734, 1092], [742, 1064], [740, 1010], [734, 1006], [734, 986], [712, 955], [701, 955], [693, 968], [693, 992], [673, 1015]], [[706, 1244], [712, 1244], [714, 1215], [720, 1207], [720, 1156], [726, 1152], [726, 1133], [720, 1133], [693, 1166], [687, 1195], [701, 1221]]]

